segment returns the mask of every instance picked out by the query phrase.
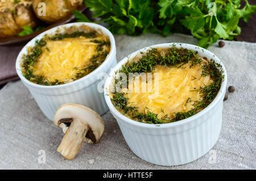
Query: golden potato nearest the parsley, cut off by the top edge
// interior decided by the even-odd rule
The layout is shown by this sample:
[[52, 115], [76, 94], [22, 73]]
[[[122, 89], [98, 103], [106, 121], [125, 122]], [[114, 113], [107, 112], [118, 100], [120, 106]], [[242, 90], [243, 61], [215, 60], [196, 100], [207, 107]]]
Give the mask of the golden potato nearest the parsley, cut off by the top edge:
[[[40, 20], [51, 24], [71, 14], [73, 10], [82, 5], [82, 2], [82, 0], [34, 0], [32, 7]], [[45, 12], [45, 15], [43, 15], [43, 12]]]

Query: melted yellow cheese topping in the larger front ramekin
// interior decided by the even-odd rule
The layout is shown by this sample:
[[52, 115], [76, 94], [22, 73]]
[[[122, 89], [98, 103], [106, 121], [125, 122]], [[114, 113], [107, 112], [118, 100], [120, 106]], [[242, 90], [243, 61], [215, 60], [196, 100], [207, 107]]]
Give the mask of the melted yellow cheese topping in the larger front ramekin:
[[[204, 63], [207, 61], [204, 60]], [[141, 113], [148, 108], [151, 112], [158, 114], [158, 118], [167, 114], [168, 117], [173, 117], [174, 112], [191, 110], [193, 102], [190, 100], [201, 100], [199, 92], [193, 90], [210, 85], [213, 79], [209, 76], [202, 77], [201, 64], [196, 64], [191, 68], [190, 66], [190, 63], [181, 68], [156, 65], [152, 71], [151, 91], [142, 92], [143, 83], [148, 85], [150, 82], [142, 82], [142, 78], [139, 79], [139, 92], [122, 90], [122, 92], [128, 92], [127, 106], [138, 107], [138, 111]], [[158, 81], [156, 81], [154, 73], [158, 73]], [[133, 87], [135, 88], [135, 82]]]

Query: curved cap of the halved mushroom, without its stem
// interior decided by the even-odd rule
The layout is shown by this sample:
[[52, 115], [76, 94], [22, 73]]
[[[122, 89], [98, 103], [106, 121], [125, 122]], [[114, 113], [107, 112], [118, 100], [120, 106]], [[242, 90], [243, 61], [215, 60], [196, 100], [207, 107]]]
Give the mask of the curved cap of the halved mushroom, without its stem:
[[[57, 127], [61, 127], [61, 120], [64, 120], [64, 123], [80, 121], [80, 123], [87, 125], [89, 127], [88, 133], [93, 133], [96, 139], [92, 140], [89, 137], [85, 137], [84, 141], [88, 143], [97, 143], [104, 132], [104, 122], [101, 116], [90, 108], [81, 106], [79, 104], [69, 103], [59, 107], [53, 119], [54, 124]], [[63, 128], [64, 133], [64, 130], [67, 131], [67, 129]]]

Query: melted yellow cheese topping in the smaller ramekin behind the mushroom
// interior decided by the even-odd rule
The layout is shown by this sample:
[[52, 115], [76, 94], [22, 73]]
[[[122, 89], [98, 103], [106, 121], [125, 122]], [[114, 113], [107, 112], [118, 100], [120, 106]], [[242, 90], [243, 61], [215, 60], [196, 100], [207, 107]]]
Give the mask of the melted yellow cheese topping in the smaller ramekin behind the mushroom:
[[71, 78], [90, 65], [90, 58], [97, 53], [97, 43], [85, 37], [47, 41], [42, 54], [33, 66], [33, 74], [43, 75], [47, 81], [71, 82]]

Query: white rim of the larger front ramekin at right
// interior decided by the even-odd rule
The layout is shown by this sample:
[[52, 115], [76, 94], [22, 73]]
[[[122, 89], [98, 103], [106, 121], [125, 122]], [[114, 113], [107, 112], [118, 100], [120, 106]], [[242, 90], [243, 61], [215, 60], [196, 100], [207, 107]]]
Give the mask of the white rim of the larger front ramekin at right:
[[[127, 61], [129, 61], [129, 57], [133, 57], [135, 54], [138, 54], [139, 52], [143, 52], [146, 51], [147, 49], [150, 48], [155, 48], [155, 47], [169, 47], [169, 46], [173, 46], [176, 45], [177, 47], [181, 47], [181, 48], [187, 48], [187, 46], [192, 46], [192, 48], [187, 48], [187, 49], [191, 49], [191, 50], [198, 50], [201, 49], [203, 51], [203, 54], [207, 54], [208, 56], [212, 57], [214, 62], [218, 61], [217, 63], [220, 64], [222, 66], [222, 70], [223, 73], [222, 75], [224, 75], [224, 80], [221, 83], [221, 87], [220, 90], [218, 91], [218, 94], [216, 95], [216, 98], [214, 98], [214, 100], [207, 106], [204, 108], [204, 110], [201, 110], [200, 112], [196, 113], [193, 116], [188, 117], [187, 119], [183, 119], [180, 121], [176, 121], [173, 123], [164, 123], [164, 124], [148, 124], [148, 123], [141, 123], [139, 121], [135, 121], [130, 119], [129, 117], [126, 117], [125, 115], [123, 115], [121, 112], [119, 112], [113, 105], [113, 103], [110, 100], [109, 94], [106, 90], [108, 90], [108, 86], [111, 83], [112, 80], [112, 75], [114, 74], [115, 71], [119, 70], [121, 68], [121, 66], [123, 64], [125, 64]], [[184, 46], [184, 47], [183, 47]], [[156, 45], [151, 45], [148, 47], [144, 47], [142, 49], [139, 49], [131, 54], [129, 54], [128, 56], [126, 56], [125, 58], [123, 58], [121, 61], [118, 62], [117, 65], [114, 66], [114, 68], [112, 69], [112, 71], [110, 71], [108, 78], [106, 79], [105, 85], [104, 85], [104, 96], [105, 96], [105, 100], [106, 103], [109, 107], [110, 112], [112, 112], [112, 114], [114, 116], [117, 116], [120, 120], [125, 121], [126, 123], [130, 124], [130, 125], [134, 125], [137, 127], [143, 127], [143, 128], [152, 128], [152, 129], [157, 129], [157, 128], [171, 128], [171, 127], [177, 127], [180, 125], [184, 125], [187, 123], [190, 123], [191, 121], [197, 119], [198, 117], [200, 117], [201, 115], [204, 115], [205, 113], [209, 112], [222, 98], [222, 96], [225, 94], [225, 89], [226, 89], [226, 83], [227, 83], [227, 73], [226, 73], [226, 69], [224, 64], [222, 63], [222, 61], [216, 56], [214, 55], [212, 52], [210, 52], [207, 49], [201, 48], [197, 45], [192, 45], [192, 44], [187, 44], [187, 43], [163, 43], [163, 44], [156, 44]]]

